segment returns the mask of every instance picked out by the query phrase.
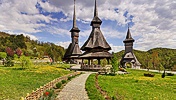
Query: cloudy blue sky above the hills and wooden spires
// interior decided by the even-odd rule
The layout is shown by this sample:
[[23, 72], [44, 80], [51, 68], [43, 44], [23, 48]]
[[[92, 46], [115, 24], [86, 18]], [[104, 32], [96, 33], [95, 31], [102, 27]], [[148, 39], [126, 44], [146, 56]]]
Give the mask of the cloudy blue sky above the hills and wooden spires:
[[[65, 48], [71, 42], [74, 0], [0, 0], [0, 31], [24, 34]], [[176, 1], [97, 0], [101, 30], [112, 51], [124, 49], [130, 26], [134, 49], [176, 49]], [[94, 0], [76, 0], [80, 47], [91, 32]]]

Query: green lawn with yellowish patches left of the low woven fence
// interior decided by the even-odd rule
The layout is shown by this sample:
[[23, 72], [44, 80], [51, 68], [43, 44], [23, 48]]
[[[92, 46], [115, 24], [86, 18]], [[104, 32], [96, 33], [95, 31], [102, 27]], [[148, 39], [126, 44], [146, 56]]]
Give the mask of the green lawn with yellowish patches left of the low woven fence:
[[63, 69], [63, 66], [45, 64], [25, 70], [21, 70], [19, 66], [1, 66], [0, 100], [19, 100], [20, 97], [25, 97], [27, 93], [31, 93], [32, 90], [36, 90], [53, 79], [71, 73]]

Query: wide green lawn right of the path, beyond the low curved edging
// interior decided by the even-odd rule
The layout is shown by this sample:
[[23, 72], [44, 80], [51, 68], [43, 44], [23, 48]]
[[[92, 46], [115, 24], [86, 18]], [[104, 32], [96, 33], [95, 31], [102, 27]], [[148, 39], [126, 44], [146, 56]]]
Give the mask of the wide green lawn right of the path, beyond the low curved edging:
[[99, 84], [117, 100], [175, 100], [176, 75], [161, 78], [161, 74], [154, 73], [155, 77], [145, 77], [145, 71], [129, 72], [116, 76], [99, 75]]

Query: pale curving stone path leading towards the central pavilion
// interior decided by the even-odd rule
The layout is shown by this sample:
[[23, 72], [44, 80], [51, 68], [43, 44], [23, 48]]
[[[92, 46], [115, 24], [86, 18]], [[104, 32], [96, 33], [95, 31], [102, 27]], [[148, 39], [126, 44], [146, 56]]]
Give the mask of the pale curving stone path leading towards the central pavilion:
[[72, 79], [60, 91], [56, 100], [89, 100], [85, 90], [85, 83], [91, 72], [85, 72]]

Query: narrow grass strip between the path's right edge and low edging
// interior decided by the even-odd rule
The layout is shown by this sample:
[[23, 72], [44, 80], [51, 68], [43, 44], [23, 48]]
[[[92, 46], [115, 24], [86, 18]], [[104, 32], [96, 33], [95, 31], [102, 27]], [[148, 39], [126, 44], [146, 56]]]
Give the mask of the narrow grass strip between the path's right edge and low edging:
[[95, 74], [91, 74], [86, 81], [86, 90], [90, 100], [105, 100], [95, 87]]

